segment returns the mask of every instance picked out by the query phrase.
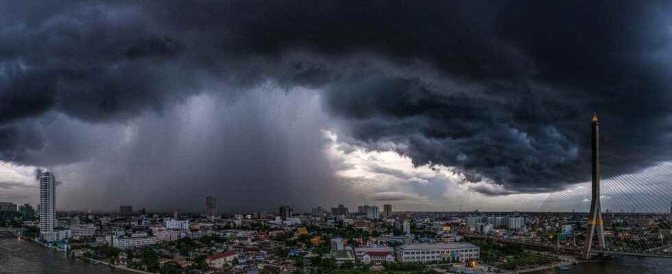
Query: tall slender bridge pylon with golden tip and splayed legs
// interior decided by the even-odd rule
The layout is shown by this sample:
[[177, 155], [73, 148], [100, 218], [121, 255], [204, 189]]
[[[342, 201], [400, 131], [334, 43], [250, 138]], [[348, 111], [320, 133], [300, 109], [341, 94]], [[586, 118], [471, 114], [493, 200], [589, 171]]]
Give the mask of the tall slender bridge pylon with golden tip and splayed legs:
[[604, 245], [604, 227], [602, 221], [602, 208], [600, 206], [600, 122], [597, 114], [592, 114], [592, 197], [590, 199], [590, 213], [588, 214], [588, 230], [586, 233], [586, 258], [590, 258], [592, 237], [597, 236], [597, 242], [601, 249]]

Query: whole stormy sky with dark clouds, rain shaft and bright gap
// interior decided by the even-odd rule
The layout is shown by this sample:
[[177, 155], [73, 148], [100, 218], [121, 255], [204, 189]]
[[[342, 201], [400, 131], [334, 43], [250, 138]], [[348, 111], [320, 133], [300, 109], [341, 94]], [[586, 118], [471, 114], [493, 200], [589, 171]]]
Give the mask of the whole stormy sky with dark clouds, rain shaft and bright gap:
[[36, 204], [51, 169], [62, 210], [585, 211], [593, 112], [607, 192], [662, 178], [619, 195], [654, 193], [672, 170], [671, 8], [10, 1], [0, 200]]

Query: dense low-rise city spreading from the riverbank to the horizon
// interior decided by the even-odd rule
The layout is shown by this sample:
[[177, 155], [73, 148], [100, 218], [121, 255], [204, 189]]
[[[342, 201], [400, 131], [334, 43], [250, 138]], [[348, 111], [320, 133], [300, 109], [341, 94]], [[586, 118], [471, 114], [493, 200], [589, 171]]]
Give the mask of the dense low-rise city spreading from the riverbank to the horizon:
[[[53, 175], [37, 210], [0, 203], [0, 227], [72, 258], [139, 273], [521, 273], [579, 262], [586, 214], [398, 212], [392, 205], [219, 214], [58, 212]], [[53, 212], [53, 214], [51, 213]], [[605, 214], [614, 249], [664, 249], [668, 215]], [[635, 250], [632, 250], [635, 251]], [[660, 251], [660, 250], [659, 250]]]

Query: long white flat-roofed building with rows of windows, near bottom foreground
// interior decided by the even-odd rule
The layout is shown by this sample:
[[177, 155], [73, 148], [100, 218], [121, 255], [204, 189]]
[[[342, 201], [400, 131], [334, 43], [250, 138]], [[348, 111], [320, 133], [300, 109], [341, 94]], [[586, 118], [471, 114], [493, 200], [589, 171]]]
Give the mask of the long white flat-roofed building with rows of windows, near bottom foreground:
[[447, 242], [441, 244], [406, 244], [398, 247], [399, 262], [444, 262], [459, 260], [465, 262], [481, 257], [481, 248], [468, 242]]

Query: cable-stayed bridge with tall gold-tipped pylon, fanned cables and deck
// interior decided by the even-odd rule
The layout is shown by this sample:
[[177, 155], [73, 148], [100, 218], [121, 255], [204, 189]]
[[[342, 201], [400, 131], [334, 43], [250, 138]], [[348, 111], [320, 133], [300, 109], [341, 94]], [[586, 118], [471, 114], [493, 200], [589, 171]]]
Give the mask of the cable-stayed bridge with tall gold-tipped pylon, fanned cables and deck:
[[[562, 242], [557, 236], [555, 243], [517, 243], [581, 253], [586, 259], [592, 254], [672, 258], [672, 164], [645, 150], [612, 153], [602, 162], [599, 126], [594, 115], [590, 184], [553, 192], [540, 208], [579, 229], [564, 235]], [[626, 161], [647, 164], [634, 166], [634, 173], [621, 173], [612, 164]]]

